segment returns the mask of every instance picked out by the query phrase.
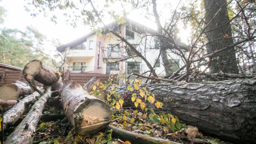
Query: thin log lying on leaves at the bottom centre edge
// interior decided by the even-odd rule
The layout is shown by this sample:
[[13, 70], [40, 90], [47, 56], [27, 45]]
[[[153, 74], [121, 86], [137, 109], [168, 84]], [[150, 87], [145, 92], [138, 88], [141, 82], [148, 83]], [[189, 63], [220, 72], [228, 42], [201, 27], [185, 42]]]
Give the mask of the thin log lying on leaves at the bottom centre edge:
[[107, 130], [113, 130], [112, 134], [115, 138], [120, 138], [122, 141], [129, 141], [132, 144], [179, 144], [162, 138], [154, 138], [144, 134], [132, 133], [130, 131], [119, 129], [115, 126], [108, 125]]

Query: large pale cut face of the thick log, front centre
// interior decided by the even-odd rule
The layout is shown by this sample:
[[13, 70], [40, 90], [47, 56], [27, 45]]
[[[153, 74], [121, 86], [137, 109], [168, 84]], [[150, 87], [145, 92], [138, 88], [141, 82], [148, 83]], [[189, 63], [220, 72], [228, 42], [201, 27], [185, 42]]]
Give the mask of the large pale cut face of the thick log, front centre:
[[111, 113], [107, 103], [90, 99], [77, 108], [73, 121], [78, 134], [94, 134], [110, 123]]

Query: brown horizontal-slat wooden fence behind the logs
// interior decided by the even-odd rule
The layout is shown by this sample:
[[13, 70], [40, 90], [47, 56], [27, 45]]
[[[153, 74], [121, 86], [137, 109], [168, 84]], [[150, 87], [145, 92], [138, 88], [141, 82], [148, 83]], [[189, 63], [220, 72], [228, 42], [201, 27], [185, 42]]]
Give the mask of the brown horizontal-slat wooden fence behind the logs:
[[[22, 75], [22, 70], [0, 70], [0, 83], [5, 82], [14, 82], [16, 80], [21, 82], [27, 81], [24, 79]], [[73, 80], [75, 82], [78, 82], [81, 86], [83, 86], [86, 82], [88, 82], [92, 77], [98, 77], [100, 78], [101, 82], [105, 82], [108, 80], [109, 75], [108, 74], [72, 74], [69, 72], [65, 73], [65, 79]], [[27, 83], [28, 84], [28, 83]], [[42, 83], [36, 82], [38, 86], [43, 86]]]

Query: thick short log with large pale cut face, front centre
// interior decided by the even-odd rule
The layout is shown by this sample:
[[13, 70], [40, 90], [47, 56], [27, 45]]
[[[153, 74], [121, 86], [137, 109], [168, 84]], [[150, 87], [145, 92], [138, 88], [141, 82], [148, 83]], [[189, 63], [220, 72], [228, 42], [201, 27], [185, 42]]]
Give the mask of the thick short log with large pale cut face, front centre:
[[60, 94], [64, 113], [78, 134], [94, 134], [110, 123], [109, 105], [77, 82], [65, 80]]

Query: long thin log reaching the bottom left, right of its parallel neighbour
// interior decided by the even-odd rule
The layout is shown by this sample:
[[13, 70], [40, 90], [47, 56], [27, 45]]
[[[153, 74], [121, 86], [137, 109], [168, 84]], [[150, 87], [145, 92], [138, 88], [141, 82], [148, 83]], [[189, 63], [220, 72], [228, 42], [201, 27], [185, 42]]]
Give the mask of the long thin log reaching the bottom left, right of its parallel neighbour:
[[14, 132], [11, 133], [5, 143], [17, 144], [17, 143], [32, 143], [33, 133], [36, 130], [37, 123], [42, 115], [42, 111], [46, 101], [51, 96], [51, 87], [46, 89], [45, 94], [43, 94], [38, 101], [31, 107], [26, 117], [22, 122], [15, 128]]

